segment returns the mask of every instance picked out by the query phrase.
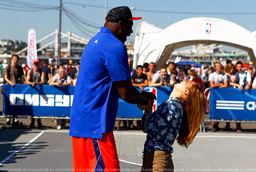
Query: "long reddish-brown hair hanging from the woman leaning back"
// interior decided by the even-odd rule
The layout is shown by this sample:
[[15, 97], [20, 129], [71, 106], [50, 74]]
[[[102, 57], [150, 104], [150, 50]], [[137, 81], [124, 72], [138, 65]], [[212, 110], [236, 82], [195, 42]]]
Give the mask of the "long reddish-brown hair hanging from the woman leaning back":
[[196, 137], [207, 108], [203, 87], [198, 83], [190, 86], [188, 95], [181, 98], [181, 105], [184, 111], [183, 123], [176, 139], [179, 145], [188, 147]]

